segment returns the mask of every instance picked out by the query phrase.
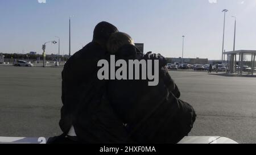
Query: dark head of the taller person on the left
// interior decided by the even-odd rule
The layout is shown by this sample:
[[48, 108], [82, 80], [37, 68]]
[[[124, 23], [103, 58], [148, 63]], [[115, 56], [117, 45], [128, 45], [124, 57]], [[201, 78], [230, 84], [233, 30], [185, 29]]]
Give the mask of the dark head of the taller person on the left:
[[106, 48], [106, 43], [112, 33], [118, 32], [117, 27], [108, 22], [100, 22], [94, 28], [93, 41], [96, 41], [103, 48]]

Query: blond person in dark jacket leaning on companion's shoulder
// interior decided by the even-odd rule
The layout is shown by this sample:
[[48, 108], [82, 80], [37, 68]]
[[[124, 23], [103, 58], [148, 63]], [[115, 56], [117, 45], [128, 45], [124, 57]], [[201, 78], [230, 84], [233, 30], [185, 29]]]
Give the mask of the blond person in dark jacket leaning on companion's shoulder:
[[196, 120], [191, 105], [180, 100], [180, 92], [166, 69], [161, 55], [142, 55], [133, 39], [123, 32], [113, 33], [107, 44], [116, 60], [159, 60], [159, 83], [148, 80], [112, 80], [106, 97], [114, 111], [127, 124], [129, 137], [139, 144], [174, 144], [187, 136]]

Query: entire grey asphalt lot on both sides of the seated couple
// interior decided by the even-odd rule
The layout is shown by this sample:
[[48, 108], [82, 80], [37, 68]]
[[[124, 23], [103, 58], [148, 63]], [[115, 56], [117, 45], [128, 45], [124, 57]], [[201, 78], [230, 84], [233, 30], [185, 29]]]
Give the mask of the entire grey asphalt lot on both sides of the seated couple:
[[[60, 133], [61, 68], [0, 66], [0, 136]], [[256, 78], [170, 72], [197, 111], [192, 136], [256, 143]]]

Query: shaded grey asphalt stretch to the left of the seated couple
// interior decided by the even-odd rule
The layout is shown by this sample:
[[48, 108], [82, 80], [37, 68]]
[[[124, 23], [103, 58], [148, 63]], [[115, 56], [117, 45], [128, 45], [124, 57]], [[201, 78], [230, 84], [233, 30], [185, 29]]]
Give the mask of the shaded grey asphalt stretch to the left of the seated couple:
[[0, 66], [0, 136], [60, 133], [61, 68]]

